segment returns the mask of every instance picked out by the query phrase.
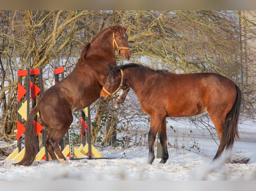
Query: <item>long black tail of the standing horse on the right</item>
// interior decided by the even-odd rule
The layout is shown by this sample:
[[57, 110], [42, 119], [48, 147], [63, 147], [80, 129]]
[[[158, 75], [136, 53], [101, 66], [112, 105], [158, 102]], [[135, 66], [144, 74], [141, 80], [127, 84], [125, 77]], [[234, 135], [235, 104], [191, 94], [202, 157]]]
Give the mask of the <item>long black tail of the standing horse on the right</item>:
[[237, 85], [235, 86], [237, 90], [237, 97], [231, 111], [226, 117], [225, 128], [222, 134], [222, 144], [220, 145], [221, 152], [225, 147], [226, 149], [232, 149], [235, 139], [240, 139], [238, 133], [238, 120], [242, 101], [242, 92]]

